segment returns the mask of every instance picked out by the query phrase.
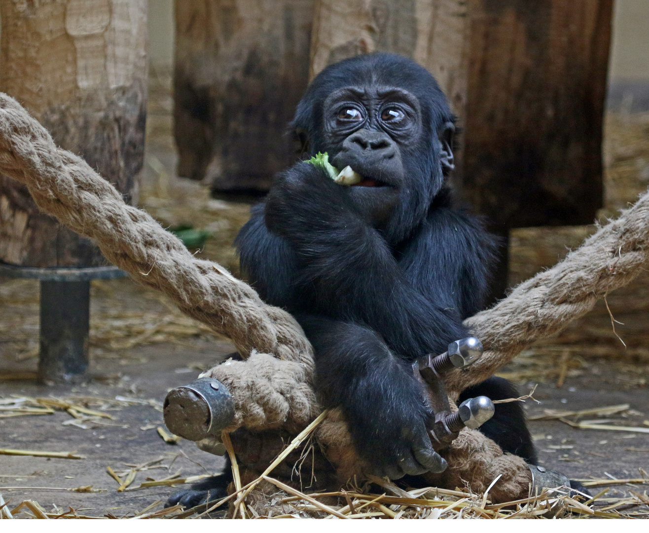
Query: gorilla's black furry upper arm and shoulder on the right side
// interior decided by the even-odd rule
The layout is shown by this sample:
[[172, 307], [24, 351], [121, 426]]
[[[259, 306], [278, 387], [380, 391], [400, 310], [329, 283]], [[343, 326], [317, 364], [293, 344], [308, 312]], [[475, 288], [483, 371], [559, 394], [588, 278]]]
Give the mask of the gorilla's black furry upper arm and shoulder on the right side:
[[442, 192], [399, 264], [420, 293], [465, 319], [484, 306], [497, 245], [480, 219], [452, 208]]

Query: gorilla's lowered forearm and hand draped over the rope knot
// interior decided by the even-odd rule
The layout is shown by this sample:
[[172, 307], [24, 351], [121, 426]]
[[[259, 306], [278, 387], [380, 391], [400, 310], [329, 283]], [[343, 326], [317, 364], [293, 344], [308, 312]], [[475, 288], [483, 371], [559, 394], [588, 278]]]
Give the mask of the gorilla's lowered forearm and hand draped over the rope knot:
[[356, 449], [374, 473], [397, 479], [443, 471], [426, 432], [432, 412], [410, 364], [367, 327], [298, 318], [315, 349], [318, 397], [324, 407], [343, 407]]

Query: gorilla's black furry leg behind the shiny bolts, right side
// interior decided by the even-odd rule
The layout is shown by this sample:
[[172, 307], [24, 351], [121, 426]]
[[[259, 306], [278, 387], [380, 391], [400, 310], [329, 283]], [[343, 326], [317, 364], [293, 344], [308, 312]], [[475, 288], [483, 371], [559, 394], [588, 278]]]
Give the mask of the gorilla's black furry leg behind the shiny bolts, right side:
[[[508, 380], [492, 376], [462, 391], [459, 403], [476, 396], [506, 400], [519, 397], [519, 391]], [[525, 424], [525, 414], [519, 402], [496, 404], [495, 414], [478, 431], [495, 441], [502, 451], [522, 457], [530, 464], [537, 464], [532, 436]]]

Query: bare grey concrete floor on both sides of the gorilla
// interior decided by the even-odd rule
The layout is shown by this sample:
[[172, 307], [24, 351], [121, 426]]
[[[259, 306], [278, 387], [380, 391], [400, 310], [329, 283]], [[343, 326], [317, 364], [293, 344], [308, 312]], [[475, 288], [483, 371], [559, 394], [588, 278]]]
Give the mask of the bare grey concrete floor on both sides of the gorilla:
[[[125, 353], [131, 361], [136, 356], [147, 362], [124, 365], [117, 359], [98, 359], [92, 366], [93, 378], [84, 386], [40, 386], [32, 380], [0, 382], [0, 396], [30, 397], [93, 396], [114, 399], [116, 396], [153, 399], [158, 409], [149, 405], [134, 405], [108, 411], [114, 419], [110, 425], [88, 424], [88, 429], [64, 425], [72, 417], [66, 412], [53, 415], [22, 416], [0, 419], [0, 447], [39, 451], [75, 451], [85, 456], [81, 460], [36, 458], [0, 455], [0, 493], [12, 506], [25, 499], [38, 501], [47, 511], [75, 508], [79, 514], [116, 516], [134, 514], [161, 500], [165, 501], [175, 489], [171, 487], [133, 490], [145, 478], [161, 479], [182, 468], [182, 477], [215, 473], [222, 459], [202, 452], [194, 443], [181, 440], [169, 445], [158, 436], [156, 427], [163, 426], [159, 405], [169, 388], [186, 384], [198, 371], [196, 361], [214, 364], [232, 351], [227, 341], [194, 342], [190, 347], [172, 343], [137, 347], [137, 354]], [[10, 362], [0, 360], [5, 372]], [[30, 363], [35, 366], [35, 361]], [[24, 369], [24, 366], [23, 366]], [[630, 404], [631, 414], [611, 418], [637, 427], [649, 419], [646, 388], [628, 388], [615, 382], [615, 365], [610, 362], [590, 362], [579, 377], [567, 378], [561, 388], [554, 383], [541, 384], [534, 397], [541, 401], [525, 404], [528, 415], [542, 414], [545, 409], [581, 410], [596, 406]], [[521, 390], [526, 390], [522, 386]], [[647, 422], [649, 424], [649, 422]], [[561, 471], [571, 478], [639, 478], [649, 471], [649, 434], [603, 430], [579, 430], [560, 421], [530, 421], [530, 430], [539, 449], [541, 464]], [[147, 428], [149, 429], [141, 429]], [[559, 448], [563, 446], [563, 448]], [[631, 450], [630, 450], [631, 449]], [[644, 450], [644, 451], [632, 451]], [[117, 482], [106, 467], [127, 470], [156, 458], [164, 458], [156, 468], [138, 473], [130, 490], [118, 493]], [[173, 463], [173, 464], [172, 464]], [[36, 487], [78, 488], [92, 485], [98, 492], [43, 490]], [[29, 487], [9, 489], [8, 487]], [[607, 497], [628, 495], [628, 490], [646, 493], [647, 485], [611, 486]], [[595, 492], [598, 492], [598, 488]]]

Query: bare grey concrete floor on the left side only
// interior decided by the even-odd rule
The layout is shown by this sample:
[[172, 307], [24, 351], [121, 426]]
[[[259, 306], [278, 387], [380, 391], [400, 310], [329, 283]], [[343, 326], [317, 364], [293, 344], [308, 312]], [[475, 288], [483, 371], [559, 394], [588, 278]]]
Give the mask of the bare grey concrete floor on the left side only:
[[[199, 450], [191, 441], [181, 440], [177, 445], [165, 443], [156, 427], [163, 427], [160, 406], [169, 390], [197, 377], [197, 369], [186, 366], [197, 360], [214, 364], [232, 352], [227, 342], [193, 345], [188, 350], [180, 345], [161, 343], [138, 347], [138, 358], [145, 363], [124, 366], [119, 360], [99, 360], [93, 364], [92, 380], [84, 386], [70, 389], [65, 386], [42, 386], [32, 380], [0, 382], [0, 396], [74, 397], [92, 396], [114, 399], [116, 396], [152, 399], [157, 408], [132, 405], [110, 410], [114, 419], [110, 425], [86, 423], [88, 429], [64, 425], [73, 418], [67, 412], [53, 415], [22, 416], [0, 419], [0, 447], [38, 451], [76, 451], [85, 456], [81, 460], [0, 455], [0, 493], [13, 507], [25, 499], [38, 501], [45, 510], [69, 506], [79, 514], [101, 516], [110, 512], [116, 516], [135, 513], [155, 501], [166, 501], [175, 489], [156, 487], [132, 490], [146, 477], [161, 479], [177, 473], [181, 477], [217, 473], [223, 459]], [[125, 353], [129, 356], [129, 353]], [[132, 360], [136, 360], [132, 358]], [[3, 364], [6, 369], [6, 363]], [[32, 362], [32, 366], [33, 362]], [[119, 377], [117, 377], [119, 376]], [[141, 428], [145, 428], [142, 430]], [[106, 467], [128, 470], [136, 465], [164, 458], [158, 465], [171, 465], [138, 473], [129, 490], [117, 492], [118, 484], [106, 472]], [[172, 464], [173, 463], [173, 464]], [[39, 490], [33, 487], [77, 488], [92, 485], [92, 493], [60, 490]], [[5, 489], [5, 487], [31, 487]], [[56, 506], [56, 507], [55, 507]], [[158, 507], [159, 508], [159, 507]]]

